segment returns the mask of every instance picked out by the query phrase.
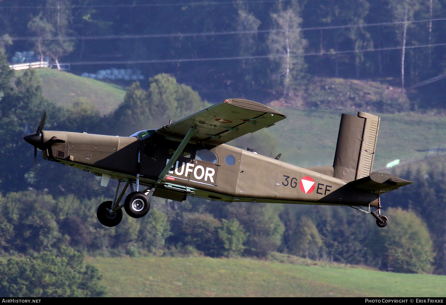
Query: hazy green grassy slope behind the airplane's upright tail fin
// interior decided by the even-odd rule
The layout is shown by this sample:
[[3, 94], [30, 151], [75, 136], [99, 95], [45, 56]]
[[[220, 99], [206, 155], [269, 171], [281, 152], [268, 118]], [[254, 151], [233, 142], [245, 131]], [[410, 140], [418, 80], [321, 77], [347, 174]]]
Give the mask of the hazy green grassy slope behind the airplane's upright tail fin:
[[[276, 107], [287, 119], [235, 140], [240, 148], [253, 148], [264, 156], [282, 153], [281, 161], [301, 167], [333, 165], [341, 113], [354, 110], [297, 110]], [[416, 114], [372, 114], [381, 116], [374, 170], [386, 171], [395, 159], [423, 158], [419, 150], [446, 145], [446, 117]], [[384, 169], [383, 169], [384, 167]]]

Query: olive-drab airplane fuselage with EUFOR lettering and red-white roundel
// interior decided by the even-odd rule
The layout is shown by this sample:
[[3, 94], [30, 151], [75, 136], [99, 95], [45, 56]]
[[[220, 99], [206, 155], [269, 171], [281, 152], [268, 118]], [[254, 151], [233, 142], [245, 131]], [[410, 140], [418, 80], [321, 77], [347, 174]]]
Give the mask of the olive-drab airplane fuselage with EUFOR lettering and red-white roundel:
[[[44, 151], [45, 159], [116, 179], [136, 179], [139, 153], [140, 184], [147, 186], [156, 183], [179, 144], [156, 133], [144, 139], [59, 131], [44, 131], [43, 136], [65, 141]], [[343, 180], [227, 144], [187, 144], [161, 184], [173, 192], [226, 202], [376, 206], [378, 199], [369, 192], [341, 192]]]

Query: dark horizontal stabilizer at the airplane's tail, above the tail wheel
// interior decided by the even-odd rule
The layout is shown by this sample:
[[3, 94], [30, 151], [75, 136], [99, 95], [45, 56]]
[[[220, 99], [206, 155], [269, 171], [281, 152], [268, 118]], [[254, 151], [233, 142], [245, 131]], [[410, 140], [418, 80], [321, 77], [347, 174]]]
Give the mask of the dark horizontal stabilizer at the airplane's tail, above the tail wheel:
[[407, 181], [388, 173], [371, 173], [368, 177], [351, 181], [347, 183], [347, 187], [356, 190], [364, 190], [376, 194], [382, 194], [391, 190], [396, 190], [401, 186], [411, 184]]

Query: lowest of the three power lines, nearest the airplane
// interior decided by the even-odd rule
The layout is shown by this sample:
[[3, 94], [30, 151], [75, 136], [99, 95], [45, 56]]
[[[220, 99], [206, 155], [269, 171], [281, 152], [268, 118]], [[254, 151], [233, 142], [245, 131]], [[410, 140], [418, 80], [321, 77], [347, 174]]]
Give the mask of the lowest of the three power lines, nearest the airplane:
[[[433, 45], [411, 45], [406, 46], [406, 49], [416, 49], [425, 47], [444, 46], [446, 43], [438, 43]], [[346, 51], [333, 51], [333, 52], [312, 52], [292, 55], [297, 56], [314, 56], [314, 55], [335, 55], [335, 54], [348, 54], [356, 52], [376, 52], [376, 51], [388, 51], [402, 49], [402, 47], [387, 47], [376, 49], [363, 49], [363, 50], [346, 50]], [[177, 58], [177, 59], [151, 59], [151, 60], [135, 60], [135, 61], [108, 61], [108, 62], [70, 62], [70, 65], [122, 65], [122, 64], [142, 64], [142, 63], [171, 63], [171, 62], [204, 62], [204, 61], [217, 61], [217, 60], [239, 60], [239, 59], [262, 59], [262, 58], [280, 58], [286, 57], [286, 54], [270, 54], [270, 55], [258, 55], [258, 56], [233, 56], [233, 57], [216, 57], [216, 58]]]

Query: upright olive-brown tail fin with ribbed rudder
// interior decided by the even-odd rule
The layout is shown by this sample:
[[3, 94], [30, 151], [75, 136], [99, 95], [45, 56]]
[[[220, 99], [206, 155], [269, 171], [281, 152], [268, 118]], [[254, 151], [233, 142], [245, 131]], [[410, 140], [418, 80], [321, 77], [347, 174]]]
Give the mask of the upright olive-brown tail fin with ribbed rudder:
[[342, 114], [333, 162], [334, 177], [353, 181], [372, 171], [380, 117], [365, 112]]

